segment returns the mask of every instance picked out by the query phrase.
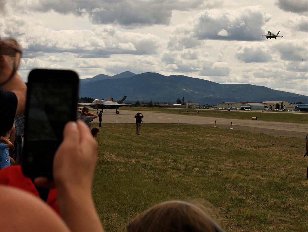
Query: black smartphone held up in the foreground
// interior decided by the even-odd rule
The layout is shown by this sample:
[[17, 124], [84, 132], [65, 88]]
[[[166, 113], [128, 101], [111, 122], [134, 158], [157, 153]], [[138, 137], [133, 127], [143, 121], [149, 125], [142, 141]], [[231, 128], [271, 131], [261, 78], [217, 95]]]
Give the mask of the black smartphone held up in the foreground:
[[31, 179], [52, 180], [63, 128], [68, 121], [76, 121], [79, 77], [71, 70], [34, 69], [27, 87], [22, 172]]

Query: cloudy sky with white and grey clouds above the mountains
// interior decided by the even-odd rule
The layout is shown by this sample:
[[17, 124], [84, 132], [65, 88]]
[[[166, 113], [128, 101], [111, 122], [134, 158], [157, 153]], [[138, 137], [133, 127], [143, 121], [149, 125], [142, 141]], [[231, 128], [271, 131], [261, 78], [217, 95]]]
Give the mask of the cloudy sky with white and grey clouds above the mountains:
[[[157, 72], [307, 95], [307, 1], [2, 1], [19, 74]], [[261, 34], [284, 37], [266, 39]]]

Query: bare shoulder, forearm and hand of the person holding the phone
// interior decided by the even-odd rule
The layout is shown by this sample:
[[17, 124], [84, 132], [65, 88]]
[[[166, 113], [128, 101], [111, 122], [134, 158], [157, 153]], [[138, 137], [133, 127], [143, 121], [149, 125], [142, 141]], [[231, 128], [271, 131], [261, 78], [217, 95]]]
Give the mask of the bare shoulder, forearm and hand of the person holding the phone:
[[[37, 177], [34, 184], [57, 190], [59, 215], [40, 198], [0, 185], [3, 231], [103, 231], [92, 199], [97, 143], [84, 122], [68, 122], [53, 162], [54, 181]], [[93, 162], [95, 160], [95, 162]], [[72, 178], [73, 177], [73, 178]], [[7, 222], [7, 218], [14, 220]]]

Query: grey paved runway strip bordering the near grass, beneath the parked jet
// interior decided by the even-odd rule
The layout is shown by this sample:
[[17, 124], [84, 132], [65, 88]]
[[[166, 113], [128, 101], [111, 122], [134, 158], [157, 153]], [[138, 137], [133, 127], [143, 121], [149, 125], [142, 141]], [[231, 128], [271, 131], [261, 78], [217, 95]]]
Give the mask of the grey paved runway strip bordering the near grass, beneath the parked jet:
[[[135, 114], [137, 111], [121, 110], [120, 114], [115, 114], [115, 110], [104, 110], [103, 123], [135, 123]], [[266, 122], [259, 120], [241, 120], [241, 119], [227, 119], [227, 118], [211, 118], [211, 117], [199, 117], [194, 116], [196, 112], [184, 112], [183, 114], [166, 114], [158, 112], [142, 112], [144, 118], [143, 123], [174, 123], [174, 124], [207, 124], [216, 125], [229, 125], [232, 126], [249, 126], [271, 130], [285, 130], [308, 133], [307, 124], [299, 123], [286, 123], [286, 122]], [[95, 118], [93, 122], [99, 122], [98, 118]]]

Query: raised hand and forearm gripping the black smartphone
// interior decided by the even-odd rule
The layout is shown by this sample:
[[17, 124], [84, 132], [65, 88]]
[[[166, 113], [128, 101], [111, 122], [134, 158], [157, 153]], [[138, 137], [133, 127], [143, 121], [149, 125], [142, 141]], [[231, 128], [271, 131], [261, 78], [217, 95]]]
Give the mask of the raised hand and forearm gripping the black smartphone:
[[[85, 123], [67, 123], [53, 173], [60, 214], [71, 231], [103, 231], [91, 195], [96, 149], [97, 143]], [[41, 185], [44, 180], [34, 181]]]

